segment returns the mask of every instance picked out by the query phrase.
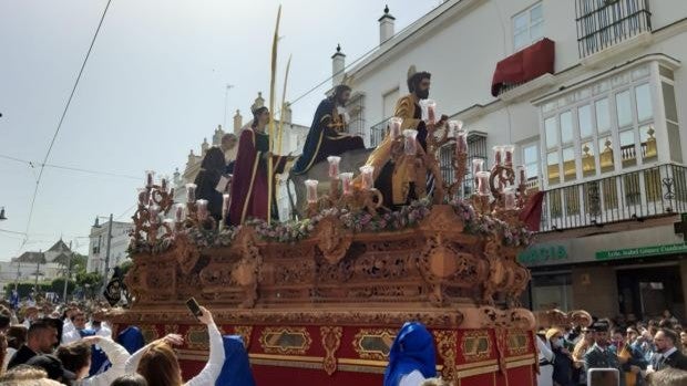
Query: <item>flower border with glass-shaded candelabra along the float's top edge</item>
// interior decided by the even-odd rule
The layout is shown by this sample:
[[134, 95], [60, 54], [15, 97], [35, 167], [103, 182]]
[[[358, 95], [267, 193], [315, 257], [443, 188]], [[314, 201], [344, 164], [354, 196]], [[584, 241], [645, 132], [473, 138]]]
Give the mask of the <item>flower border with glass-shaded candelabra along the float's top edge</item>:
[[[423, 115], [432, 119], [435, 104], [428, 101], [422, 104]], [[401, 157], [417, 157], [419, 144], [416, 131], [401, 131], [402, 119], [389, 119], [389, 136], [392, 139], [392, 155], [398, 161]], [[350, 171], [340, 173], [340, 157], [330, 156], [328, 195], [318, 195], [317, 180], [306, 180], [307, 217], [297, 221], [267, 222], [250, 219], [242, 226], [225, 226], [228, 216], [229, 195], [224, 195], [223, 220], [217, 223], [209, 216], [207, 200], [196, 200], [196, 186], [186, 185], [185, 204], [174, 204], [174, 189], [167, 189], [166, 179], [154, 184], [154, 171], [146, 171], [146, 186], [139, 192], [139, 209], [133, 216], [135, 229], [132, 232], [130, 252], [161, 253], [170, 249], [174, 239], [184, 234], [199, 248], [229, 247], [242, 228], [250, 227], [256, 234], [269, 242], [294, 243], [308, 239], [316, 226], [325, 218], [336, 218], [341, 227], [355, 233], [399, 231], [416, 227], [431, 211], [433, 205], [449, 205], [458, 219], [463, 222], [463, 232], [468, 234], [501, 238], [506, 247], [526, 247], [533, 240], [533, 232], [520, 221], [519, 213], [525, 206], [526, 192], [525, 168], [513, 168], [513, 146], [494, 146], [494, 165], [484, 169], [483, 159], [472, 161], [472, 176], [476, 192], [468, 198], [458, 197], [462, 186], [468, 159], [468, 132], [460, 121], [450, 121], [435, 135], [430, 129], [428, 152], [423, 163], [427, 171], [438, 170], [434, 154], [448, 143], [454, 143], [452, 154], [454, 178], [447, 184], [441, 174], [433, 173], [435, 191], [433, 199], [423, 198], [410, 202], [398, 210], [383, 207], [382, 196], [375, 188], [372, 166], [360, 167], [360, 174], [353, 178]], [[420, 173], [427, 173], [424, 170]], [[172, 212], [171, 218], [163, 219]]]

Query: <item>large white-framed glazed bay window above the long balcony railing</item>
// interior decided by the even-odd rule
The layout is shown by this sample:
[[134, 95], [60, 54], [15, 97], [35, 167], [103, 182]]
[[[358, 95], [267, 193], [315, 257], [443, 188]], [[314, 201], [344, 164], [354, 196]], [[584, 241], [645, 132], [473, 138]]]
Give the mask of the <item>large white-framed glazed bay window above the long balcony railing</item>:
[[649, 69], [637, 66], [542, 105], [548, 186], [657, 160]]

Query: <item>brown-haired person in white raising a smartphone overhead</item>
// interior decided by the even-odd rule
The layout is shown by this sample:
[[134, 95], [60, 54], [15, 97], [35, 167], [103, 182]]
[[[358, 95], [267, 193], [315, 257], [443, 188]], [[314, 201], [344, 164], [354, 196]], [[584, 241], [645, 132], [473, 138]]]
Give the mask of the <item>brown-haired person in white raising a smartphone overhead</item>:
[[[197, 313], [198, 310], [199, 314]], [[126, 362], [126, 373], [139, 373], [147, 380], [148, 386], [214, 385], [225, 361], [222, 335], [207, 309], [198, 306], [192, 312], [201, 323], [207, 325], [209, 336], [209, 358], [198, 375], [187, 383], [182, 380], [182, 369], [176, 354], [172, 350], [173, 345], [184, 344], [184, 338], [178, 334], [170, 334], [139, 350]]]

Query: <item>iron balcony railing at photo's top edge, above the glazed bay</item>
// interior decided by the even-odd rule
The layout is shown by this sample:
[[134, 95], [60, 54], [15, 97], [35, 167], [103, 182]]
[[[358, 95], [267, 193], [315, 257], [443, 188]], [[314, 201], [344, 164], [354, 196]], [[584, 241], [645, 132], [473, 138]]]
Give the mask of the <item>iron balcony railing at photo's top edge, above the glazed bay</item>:
[[580, 58], [652, 31], [648, 0], [577, 0]]

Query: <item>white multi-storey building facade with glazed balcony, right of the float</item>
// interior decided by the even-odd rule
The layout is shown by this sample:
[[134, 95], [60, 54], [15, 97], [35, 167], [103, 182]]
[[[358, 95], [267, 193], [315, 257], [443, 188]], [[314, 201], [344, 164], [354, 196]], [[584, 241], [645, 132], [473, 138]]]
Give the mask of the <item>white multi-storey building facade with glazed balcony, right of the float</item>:
[[[533, 309], [650, 315], [650, 298], [687, 316], [687, 263], [684, 251], [667, 248], [676, 237], [665, 231], [687, 211], [687, 2], [449, 0], [398, 33], [390, 13], [379, 19], [379, 49], [345, 71], [358, 107], [352, 121], [368, 146], [381, 139], [396, 101], [408, 93], [409, 66], [430, 72], [439, 113], [472, 133], [470, 156], [491, 167], [492, 146], [515, 145], [530, 186], [545, 192], [541, 248], [566, 258], [554, 263], [542, 252], [527, 261]], [[551, 58], [542, 48], [553, 48]], [[335, 72], [341, 60], [332, 58]], [[546, 60], [551, 71], [506, 82], [492, 95], [492, 81], [509, 64], [527, 74]], [[596, 250], [571, 246], [602, 232], [605, 242], [585, 246]], [[668, 252], [646, 265], [648, 252], [614, 247]], [[598, 267], [608, 255], [628, 258]], [[634, 264], [655, 271], [653, 279]], [[646, 290], [675, 283], [667, 271], [677, 272], [679, 291]], [[599, 284], [589, 280], [595, 275], [609, 279]]]

